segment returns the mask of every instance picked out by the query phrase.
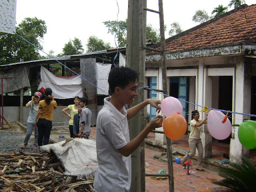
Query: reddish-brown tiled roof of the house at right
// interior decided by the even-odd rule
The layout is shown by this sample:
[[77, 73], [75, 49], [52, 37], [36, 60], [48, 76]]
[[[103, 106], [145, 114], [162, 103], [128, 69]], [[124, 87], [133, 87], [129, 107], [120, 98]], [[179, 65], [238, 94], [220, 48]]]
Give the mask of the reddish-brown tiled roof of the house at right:
[[[189, 50], [240, 42], [256, 43], [256, 4], [244, 4], [166, 39], [166, 51]], [[159, 48], [158, 46], [156, 46]]]

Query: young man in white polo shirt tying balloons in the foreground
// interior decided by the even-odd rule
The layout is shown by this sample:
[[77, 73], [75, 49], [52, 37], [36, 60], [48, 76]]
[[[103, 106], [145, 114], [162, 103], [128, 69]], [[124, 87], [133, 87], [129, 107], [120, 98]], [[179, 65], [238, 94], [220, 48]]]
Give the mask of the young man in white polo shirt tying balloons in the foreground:
[[[160, 100], [146, 99], [125, 109], [137, 96], [137, 73], [128, 67], [114, 67], [108, 76], [112, 96], [104, 99], [96, 121], [96, 149], [98, 169], [94, 179], [96, 192], [129, 191], [131, 182], [130, 154], [154, 128], [162, 126], [162, 116], [154, 117], [131, 141], [127, 120], [147, 104], [160, 110]], [[139, 127], [138, 127], [139, 128]]]

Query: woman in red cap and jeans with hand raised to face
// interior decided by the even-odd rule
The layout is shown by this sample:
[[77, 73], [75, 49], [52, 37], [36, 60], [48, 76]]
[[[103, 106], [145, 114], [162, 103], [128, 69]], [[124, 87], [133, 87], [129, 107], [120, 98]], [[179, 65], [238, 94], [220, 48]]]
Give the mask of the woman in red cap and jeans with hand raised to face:
[[28, 140], [32, 134], [34, 128], [34, 144], [33, 149], [37, 150], [37, 137], [38, 137], [38, 129], [37, 126], [34, 126], [34, 120], [38, 111], [38, 104], [42, 94], [38, 91], [34, 93], [31, 100], [26, 103], [26, 107], [29, 107], [29, 115], [26, 122], [26, 135], [24, 138], [24, 144], [20, 148], [26, 148]]

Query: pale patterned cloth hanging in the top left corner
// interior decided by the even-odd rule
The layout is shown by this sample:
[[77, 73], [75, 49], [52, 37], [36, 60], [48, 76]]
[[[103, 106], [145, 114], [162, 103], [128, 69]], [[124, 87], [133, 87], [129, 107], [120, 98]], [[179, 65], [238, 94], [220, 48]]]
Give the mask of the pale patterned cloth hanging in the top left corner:
[[16, 23], [16, 0], [0, 0], [0, 31], [13, 33]]

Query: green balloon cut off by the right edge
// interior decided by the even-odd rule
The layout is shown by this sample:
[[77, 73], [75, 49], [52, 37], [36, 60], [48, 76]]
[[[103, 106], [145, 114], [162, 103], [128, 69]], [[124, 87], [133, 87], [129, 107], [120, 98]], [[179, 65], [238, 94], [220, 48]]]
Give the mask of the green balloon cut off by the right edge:
[[256, 149], [256, 121], [245, 120], [238, 128], [238, 138], [240, 143], [248, 149]]

